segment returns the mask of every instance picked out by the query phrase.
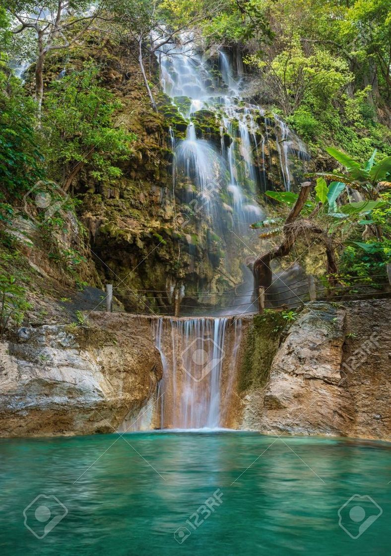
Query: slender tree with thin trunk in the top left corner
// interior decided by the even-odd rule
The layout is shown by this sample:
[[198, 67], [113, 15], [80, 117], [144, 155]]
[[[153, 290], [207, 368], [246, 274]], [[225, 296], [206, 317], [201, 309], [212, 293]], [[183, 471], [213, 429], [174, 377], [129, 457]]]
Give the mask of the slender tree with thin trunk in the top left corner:
[[35, 100], [41, 120], [43, 69], [48, 52], [76, 43], [101, 14], [104, 1], [91, 8], [89, 0], [11, 0], [8, 12], [16, 21], [14, 34], [26, 31], [36, 36]]

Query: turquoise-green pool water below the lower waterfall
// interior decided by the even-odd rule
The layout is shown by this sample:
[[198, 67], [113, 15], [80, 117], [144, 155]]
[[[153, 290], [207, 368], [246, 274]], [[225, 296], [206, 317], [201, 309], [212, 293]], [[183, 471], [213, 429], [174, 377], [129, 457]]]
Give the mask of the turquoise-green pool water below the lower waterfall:
[[[389, 554], [389, 448], [223, 431], [2, 439], [0, 552]], [[370, 497], [342, 510], [353, 537], [367, 527], [357, 539], [338, 524], [354, 495]], [[49, 525], [42, 539], [24, 525], [37, 497], [27, 525]]]

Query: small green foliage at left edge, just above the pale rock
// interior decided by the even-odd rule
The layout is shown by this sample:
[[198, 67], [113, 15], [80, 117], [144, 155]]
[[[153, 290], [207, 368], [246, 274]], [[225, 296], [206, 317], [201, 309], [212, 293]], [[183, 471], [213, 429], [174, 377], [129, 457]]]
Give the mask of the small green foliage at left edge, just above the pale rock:
[[0, 275], [0, 336], [4, 335], [7, 327], [12, 322], [20, 325], [24, 312], [31, 309], [32, 305], [26, 301], [26, 290], [18, 286], [16, 277]]

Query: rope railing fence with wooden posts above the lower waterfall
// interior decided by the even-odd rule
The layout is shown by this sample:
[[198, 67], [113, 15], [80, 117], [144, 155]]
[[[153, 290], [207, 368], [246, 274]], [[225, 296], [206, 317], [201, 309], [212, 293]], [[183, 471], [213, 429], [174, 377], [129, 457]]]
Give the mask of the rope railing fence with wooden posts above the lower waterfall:
[[[296, 309], [309, 301], [354, 301], [360, 299], [379, 299], [391, 294], [391, 265], [387, 274], [370, 276], [331, 276], [307, 275], [294, 282], [285, 284], [282, 277], [276, 276], [269, 287], [260, 286], [257, 290], [242, 290], [235, 287], [232, 291], [187, 291], [179, 288], [167, 290], [137, 290], [131, 287], [106, 285], [100, 309], [106, 311], [125, 310], [135, 314], [157, 316], [197, 316], [198, 311], [220, 312], [220, 314], [254, 314], [265, 309]], [[278, 282], [278, 285], [276, 285]], [[116, 302], [117, 301], [117, 302]], [[122, 304], [119, 306], [118, 301]], [[192, 315], [189, 315], [191, 313]], [[202, 316], [202, 315], [199, 315]]]

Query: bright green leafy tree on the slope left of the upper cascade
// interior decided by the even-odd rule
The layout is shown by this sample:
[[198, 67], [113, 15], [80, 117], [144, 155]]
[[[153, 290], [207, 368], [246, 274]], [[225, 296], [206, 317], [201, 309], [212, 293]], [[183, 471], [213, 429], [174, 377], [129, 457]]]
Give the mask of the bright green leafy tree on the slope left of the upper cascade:
[[58, 168], [64, 191], [86, 165], [97, 180], [120, 177], [117, 162], [129, 157], [136, 138], [116, 127], [113, 116], [122, 105], [99, 85], [98, 71], [86, 63], [81, 71], [54, 81], [47, 95], [43, 116], [47, 163], [52, 171]]

